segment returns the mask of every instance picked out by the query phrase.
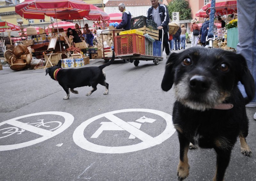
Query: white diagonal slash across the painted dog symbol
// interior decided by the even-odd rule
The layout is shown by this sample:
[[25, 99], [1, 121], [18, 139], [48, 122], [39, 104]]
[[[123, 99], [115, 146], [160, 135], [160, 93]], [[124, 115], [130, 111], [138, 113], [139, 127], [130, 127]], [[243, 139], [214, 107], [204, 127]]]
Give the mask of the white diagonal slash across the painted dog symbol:
[[139, 130], [138, 128], [130, 125], [129, 123], [125, 122], [124, 120], [116, 117], [113, 114], [107, 114], [105, 115], [105, 118], [109, 119], [113, 123], [115, 123], [117, 126], [123, 128], [124, 130], [128, 131], [132, 135], [139, 138], [141, 141], [154, 141], [154, 138], [149, 136], [148, 134], [144, 133], [143, 131]]

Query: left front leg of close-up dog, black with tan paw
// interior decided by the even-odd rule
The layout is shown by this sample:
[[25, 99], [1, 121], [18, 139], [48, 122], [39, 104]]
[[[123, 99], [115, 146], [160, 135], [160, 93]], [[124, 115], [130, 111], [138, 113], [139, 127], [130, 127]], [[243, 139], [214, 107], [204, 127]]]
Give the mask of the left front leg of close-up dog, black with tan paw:
[[178, 132], [179, 141], [180, 141], [180, 161], [178, 165], [178, 180], [182, 181], [188, 177], [189, 174], [189, 164], [188, 164], [188, 148], [189, 148], [189, 141], [188, 139], [183, 136], [181, 133]]

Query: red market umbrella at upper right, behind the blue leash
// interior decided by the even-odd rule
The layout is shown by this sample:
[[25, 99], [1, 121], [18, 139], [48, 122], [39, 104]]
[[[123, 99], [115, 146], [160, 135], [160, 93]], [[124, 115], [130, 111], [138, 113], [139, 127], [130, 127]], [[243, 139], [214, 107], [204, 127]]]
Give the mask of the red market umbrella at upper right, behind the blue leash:
[[[217, 15], [231, 14], [237, 11], [236, 0], [215, 0], [215, 10]], [[211, 7], [211, 2], [205, 4], [202, 10], [206, 11]], [[215, 14], [216, 14], [215, 13]]]

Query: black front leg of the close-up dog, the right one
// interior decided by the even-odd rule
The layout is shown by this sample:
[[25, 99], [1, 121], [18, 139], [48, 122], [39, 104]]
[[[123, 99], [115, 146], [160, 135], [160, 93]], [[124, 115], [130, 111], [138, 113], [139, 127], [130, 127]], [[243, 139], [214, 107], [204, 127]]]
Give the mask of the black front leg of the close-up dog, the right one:
[[217, 153], [216, 172], [213, 181], [224, 181], [224, 174], [230, 160], [231, 149], [214, 148]]

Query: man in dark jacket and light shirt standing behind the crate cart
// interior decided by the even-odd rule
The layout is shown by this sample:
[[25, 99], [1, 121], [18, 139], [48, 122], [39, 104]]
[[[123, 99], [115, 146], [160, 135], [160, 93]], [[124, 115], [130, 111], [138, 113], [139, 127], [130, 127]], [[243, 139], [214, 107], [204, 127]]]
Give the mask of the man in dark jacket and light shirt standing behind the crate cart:
[[[163, 38], [163, 46], [165, 48], [166, 58], [168, 59], [170, 56], [170, 49], [168, 45], [168, 39], [169, 39], [169, 12], [167, 10], [167, 7], [164, 4], [159, 4], [158, 0], [150, 0], [152, 6], [148, 9], [148, 20], [153, 20], [156, 25], [157, 29], [159, 29], [159, 37], [158, 40], [162, 40], [162, 33], [164, 33]], [[162, 32], [162, 30], [164, 32]]]

